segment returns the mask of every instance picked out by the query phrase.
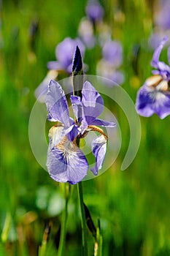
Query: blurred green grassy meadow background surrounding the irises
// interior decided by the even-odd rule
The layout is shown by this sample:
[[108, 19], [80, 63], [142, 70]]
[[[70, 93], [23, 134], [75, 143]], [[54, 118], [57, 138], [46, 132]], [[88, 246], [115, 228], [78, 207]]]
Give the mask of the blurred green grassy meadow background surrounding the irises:
[[[45, 255], [57, 255], [64, 204], [63, 185], [39, 166], [28, 140], [28, 121], [34, 90], [55, 60], [55, 46], [77, 37], [86, 1], [22, 1], [1, 3], [0, 23], [0, 255], [38, 255], [45, 226], [52, 223]], [[150, 76], [153, 51], [146, 47], [152, 32], [155, 1], [106, 0], [104, 21], [112, 39], [123, 45], [123, 89], [136, 92]], [[38, 21], [34, 38], [30, 27]], [[33, 43], [34, 42], [34, 43]], [[140, 46], [136, 58], [134, 47]], [[100, 56], [85, 53], [88, 74], [95, 75]], [[163, 52], [166, 56], [166, 52]], [[96, 59], [95, 59], [96, 58]], [[165, 57], [166, 58], [166, 57]], [[115, 164], [101, 176], [83, 182], [84, 200], [95, 224], [99, 218], [103, 255], [170, 255], [169, 116], [141, 117], [142, 139], [127, 170], [120, 165], [128, 147], [129, 127], [123, 111], [113, 106], [122, 132]], [[114, 145], [113, 145], [114, 146]], [[109, 152], [107, 152], [109, 154]], [[93, 255], [93, 237], [88, 234]], [[81, 223], [77, 187], [69, 200], [65, 255], [81, 255]]]

